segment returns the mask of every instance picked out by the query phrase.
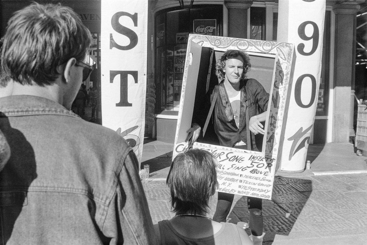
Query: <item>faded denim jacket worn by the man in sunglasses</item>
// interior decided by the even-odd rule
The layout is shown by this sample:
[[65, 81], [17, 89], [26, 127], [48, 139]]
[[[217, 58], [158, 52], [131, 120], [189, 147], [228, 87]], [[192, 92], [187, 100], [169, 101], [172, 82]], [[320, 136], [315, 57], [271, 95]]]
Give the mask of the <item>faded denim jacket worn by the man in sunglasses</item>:
[[0, 98], [11, 156], [0, 172], [0, 244], [156, 244], [132, 149], [51, 100]]

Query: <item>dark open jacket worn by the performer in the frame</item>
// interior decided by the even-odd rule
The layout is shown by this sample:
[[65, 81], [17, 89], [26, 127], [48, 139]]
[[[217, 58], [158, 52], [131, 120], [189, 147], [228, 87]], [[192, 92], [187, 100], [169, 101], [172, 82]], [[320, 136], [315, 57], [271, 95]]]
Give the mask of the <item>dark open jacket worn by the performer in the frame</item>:
[[[251, 118], [252, 116], [255, 116], [268, 109], [269, 94], [257, 80], [242, 79], [240, 81], [240, 89], [241, 100], [239, 127], [237, 127], [233, 117], [232, 109], [223, 81], [216, 85], [212, 92], [208, 91], [208, 93], [210, 93], [210, 102], [209, 104], [207, 103], [204, 112], [200, 113], [203, 114], [201, 119], [197, 120], [197, 116], [194, 116], [193, 122], [199, 123], [201, 128], [203, 128], [205, 122], [203, 119], [206, 119], [208, 107], [210, 107], [210, 103], [213, 101], [215, 91], [218, 91], [218, 97], [217, 101], [215, 102], [212, 118], [214, 123], [214, 131], [218, 136], [219, 144], [221, 146], [233, 147], [240, 140], [247, 143], [246, 110], [248, 110]], [[255, 137], [251, 138], [252, 146], [255, 146]]]

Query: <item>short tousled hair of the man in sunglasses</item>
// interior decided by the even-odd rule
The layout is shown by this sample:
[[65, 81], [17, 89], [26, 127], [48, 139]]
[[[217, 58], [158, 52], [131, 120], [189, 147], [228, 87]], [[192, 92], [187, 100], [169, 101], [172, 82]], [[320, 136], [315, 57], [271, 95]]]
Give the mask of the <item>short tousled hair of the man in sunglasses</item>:
[[90, 31], [71, 8], [32, 3], [8, 21], [1, 68], [20, 84], [51, 85], [57, 67], [70, 58], [83, 61], [90, 43]]

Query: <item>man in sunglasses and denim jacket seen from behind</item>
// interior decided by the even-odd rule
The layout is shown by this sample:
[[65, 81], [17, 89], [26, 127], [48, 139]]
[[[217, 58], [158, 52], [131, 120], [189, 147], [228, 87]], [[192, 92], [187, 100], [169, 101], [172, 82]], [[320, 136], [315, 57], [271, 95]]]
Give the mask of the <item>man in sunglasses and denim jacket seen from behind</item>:
[[132, 149], [70, 111], [93, 67], [91, 33], [60, 4], [14, 13], [1, 50], [0, 98], [11, 156], [0, 172], [5, 244], [156, 244]]

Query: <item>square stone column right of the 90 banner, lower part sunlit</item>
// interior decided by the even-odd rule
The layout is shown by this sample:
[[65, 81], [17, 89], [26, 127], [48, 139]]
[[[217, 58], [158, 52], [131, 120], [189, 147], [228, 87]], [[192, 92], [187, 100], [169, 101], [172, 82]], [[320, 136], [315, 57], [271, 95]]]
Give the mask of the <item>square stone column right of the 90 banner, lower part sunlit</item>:
[[335, 4], [335, 59], [334, 59], [334, 143], [349, 142], [354, 135], [353, 106], [356, 56], [355, 3]]

